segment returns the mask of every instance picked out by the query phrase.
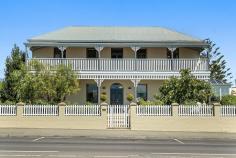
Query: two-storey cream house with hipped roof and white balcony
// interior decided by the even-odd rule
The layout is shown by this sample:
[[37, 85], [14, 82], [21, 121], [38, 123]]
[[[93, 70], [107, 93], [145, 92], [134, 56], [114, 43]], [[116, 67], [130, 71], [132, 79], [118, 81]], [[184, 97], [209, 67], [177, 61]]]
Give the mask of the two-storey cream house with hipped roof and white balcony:
[[[71, 64], [80, 91], [76, 104], [128, 104], [126, 96], [152, 100], [164, 80], [190, 68], [198, 79], [210, 76], [203, 40], [160, 27], [66, 27], [28, 39], [32, 58], [46, 65]], [[27, 59], [27, 62], [31, 59]]]

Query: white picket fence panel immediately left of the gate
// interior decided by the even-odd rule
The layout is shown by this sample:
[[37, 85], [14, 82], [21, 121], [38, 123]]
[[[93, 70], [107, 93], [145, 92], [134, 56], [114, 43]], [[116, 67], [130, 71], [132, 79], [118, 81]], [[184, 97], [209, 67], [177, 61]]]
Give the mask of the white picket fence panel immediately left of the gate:
[[66, 116], [100, 116], [100, 105], [66, 105]]

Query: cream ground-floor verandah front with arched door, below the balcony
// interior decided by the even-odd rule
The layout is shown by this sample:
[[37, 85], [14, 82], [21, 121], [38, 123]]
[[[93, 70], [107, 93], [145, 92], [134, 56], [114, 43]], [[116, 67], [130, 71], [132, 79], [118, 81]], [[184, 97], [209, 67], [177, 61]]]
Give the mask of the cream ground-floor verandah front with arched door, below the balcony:
[[[154, 100], [164, 80], [79, 80], [80, 91], [67, 97], [72, 104], [100, 103], [100, 96], [106, 95], [108, 104], [129, 104], [128, 94], [134, 98]], [[134, 100], [135, 101], [135, 100]]]

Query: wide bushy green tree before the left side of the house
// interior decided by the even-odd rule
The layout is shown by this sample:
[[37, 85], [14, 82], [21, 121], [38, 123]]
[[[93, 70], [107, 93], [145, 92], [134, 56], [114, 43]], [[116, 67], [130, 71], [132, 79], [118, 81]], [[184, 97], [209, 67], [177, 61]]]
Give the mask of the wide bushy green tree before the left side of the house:
[[15, 91], [18, 99], [32, 104], [56, 104], [79, 90], [79, 82], [71, 67], [59, 65], [51, 72], [44, 65], [34, 61], [29, 64], [35, 71], [26, 71]]

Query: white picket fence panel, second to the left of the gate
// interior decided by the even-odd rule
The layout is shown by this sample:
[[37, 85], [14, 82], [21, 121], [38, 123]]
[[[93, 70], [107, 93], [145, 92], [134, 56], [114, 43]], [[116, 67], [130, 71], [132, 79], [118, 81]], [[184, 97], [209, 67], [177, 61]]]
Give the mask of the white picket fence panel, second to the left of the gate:
[[58, 105], [24, 105], [23, 116], [58, 116]]

